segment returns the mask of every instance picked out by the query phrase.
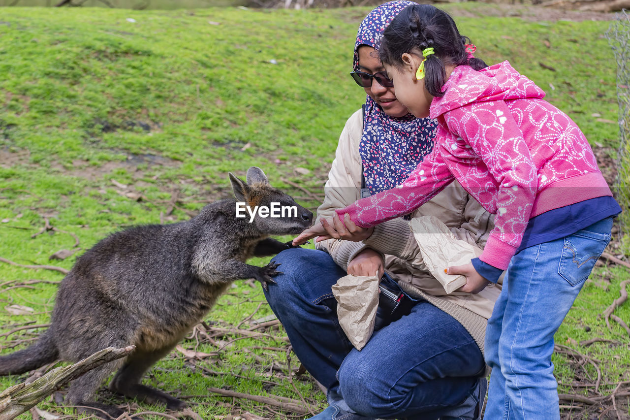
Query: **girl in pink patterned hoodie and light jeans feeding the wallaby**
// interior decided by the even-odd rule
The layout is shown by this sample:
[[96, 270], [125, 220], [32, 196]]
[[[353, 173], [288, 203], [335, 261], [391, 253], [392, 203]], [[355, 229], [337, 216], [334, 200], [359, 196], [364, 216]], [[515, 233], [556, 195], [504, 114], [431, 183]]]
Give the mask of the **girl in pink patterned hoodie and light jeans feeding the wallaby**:
[[[405, 8], [379, 55], [396, 97], [438, 121], [432, 153], [394, 189], [336, 211], [295, 238], [350, 238], [408, 214], [457, 179], [496, 214], [483, 253], [449, 267], [459, 291], [478, 293], [507, 276], [486, 330], [486, 418], [559, 419], [553, 335], [610, 240], [621, 213], [587, 139], [544, 92], [505, 61], [483, 68], [447, 13]], [[357, 227], [358, 226], [358, 227]], [[328, 230], [328, 231], [326, 231]]]

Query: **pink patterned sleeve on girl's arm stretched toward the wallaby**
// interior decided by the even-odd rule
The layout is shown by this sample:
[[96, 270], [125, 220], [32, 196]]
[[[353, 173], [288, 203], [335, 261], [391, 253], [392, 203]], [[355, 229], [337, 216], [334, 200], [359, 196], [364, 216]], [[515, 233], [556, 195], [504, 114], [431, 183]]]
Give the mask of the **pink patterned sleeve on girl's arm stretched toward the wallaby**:
[[341, 220], [345, 214], [350, 214], [350, 219], [357, 226], [368, 228], [411, 213], [432, 199], [452, 180], [454, 178], [436, 144], [432, 153], [425, 156], [403, 184], [355, 201], [336, 212]]

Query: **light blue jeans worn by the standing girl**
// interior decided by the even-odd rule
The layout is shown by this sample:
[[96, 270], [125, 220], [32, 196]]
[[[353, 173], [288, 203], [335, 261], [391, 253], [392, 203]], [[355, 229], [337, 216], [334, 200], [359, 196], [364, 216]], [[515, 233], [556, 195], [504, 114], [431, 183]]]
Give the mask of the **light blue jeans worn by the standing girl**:
[[484, 417], [560, 418], [553, 336], [610, 241], [612, 218], [512, 257], [486, 330]]

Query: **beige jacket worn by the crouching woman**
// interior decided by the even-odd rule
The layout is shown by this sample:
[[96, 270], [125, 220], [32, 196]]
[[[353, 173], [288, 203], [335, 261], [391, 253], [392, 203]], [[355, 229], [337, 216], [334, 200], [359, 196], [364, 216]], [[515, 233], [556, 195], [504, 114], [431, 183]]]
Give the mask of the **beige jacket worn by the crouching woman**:
[[[363, 132], [362, 111], [355, 112], [341, 132], [333, 166], [324, 187], [325, 198], [318, 218], [329, 217], [336, 209], [360, 199], [361, 158], [358, 151]], [[455, 237], [482, 248], [493, 228], [494, 216], [483, 209], [454, 182], [413, 213], [413, 217], [433, 215], [449, 226]], [[377, 225], [364, 242], [326, 240], [316, 243], [333, 260], [347, 269], [348, 262], [365, 248], [385, 257], [386, 271], [398, 280], [409, 295], [423, 298], [449, 313], [470, 332], [484, 351], [486, 322], [501, 291], [501, 281], [490, 284], [478, 295], [446, 295], [442, 285], [427, 271], [409, 222], [393, 219]], [[419, 326], [421, 327], [421, 326]]]

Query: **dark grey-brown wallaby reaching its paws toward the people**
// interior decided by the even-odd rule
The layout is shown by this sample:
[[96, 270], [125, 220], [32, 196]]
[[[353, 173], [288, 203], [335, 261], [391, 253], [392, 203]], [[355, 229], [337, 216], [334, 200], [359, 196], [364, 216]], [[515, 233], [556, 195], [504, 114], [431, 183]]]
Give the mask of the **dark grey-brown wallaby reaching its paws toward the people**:
[[[142, 375], [203, 319], [232, 281], [253, 278], [265, 288], [275, 283], [278, 264], [256, 267], [245, 261], [291, 247], [268, 236], [297, 235], [312, 223], [311, 211], [273, 188], [260, 168], [249, 168], [246, 183], [232, 173], [229, 178], [236, 200], [208, 204], [188, 221], [113, 233], [81, 255], [60, 283], [49, 329], [33, 346], [0, 356], [0, 375], [133, 344], [126, 358], [72, 381], [69, 404], [93, 407], [82, 411], [99, 416], [120, 416], [118, 407], [95, 401], [103, 380], [118, 369], [110, 383], [113, 392], [173, 410], [184, 407], [183, 401], [140, 385]], [[237, 217], [239, 202], [250, 210], [241, 209]], [[265, 217], [251, 211], [256, 206], [293, 211]]]

